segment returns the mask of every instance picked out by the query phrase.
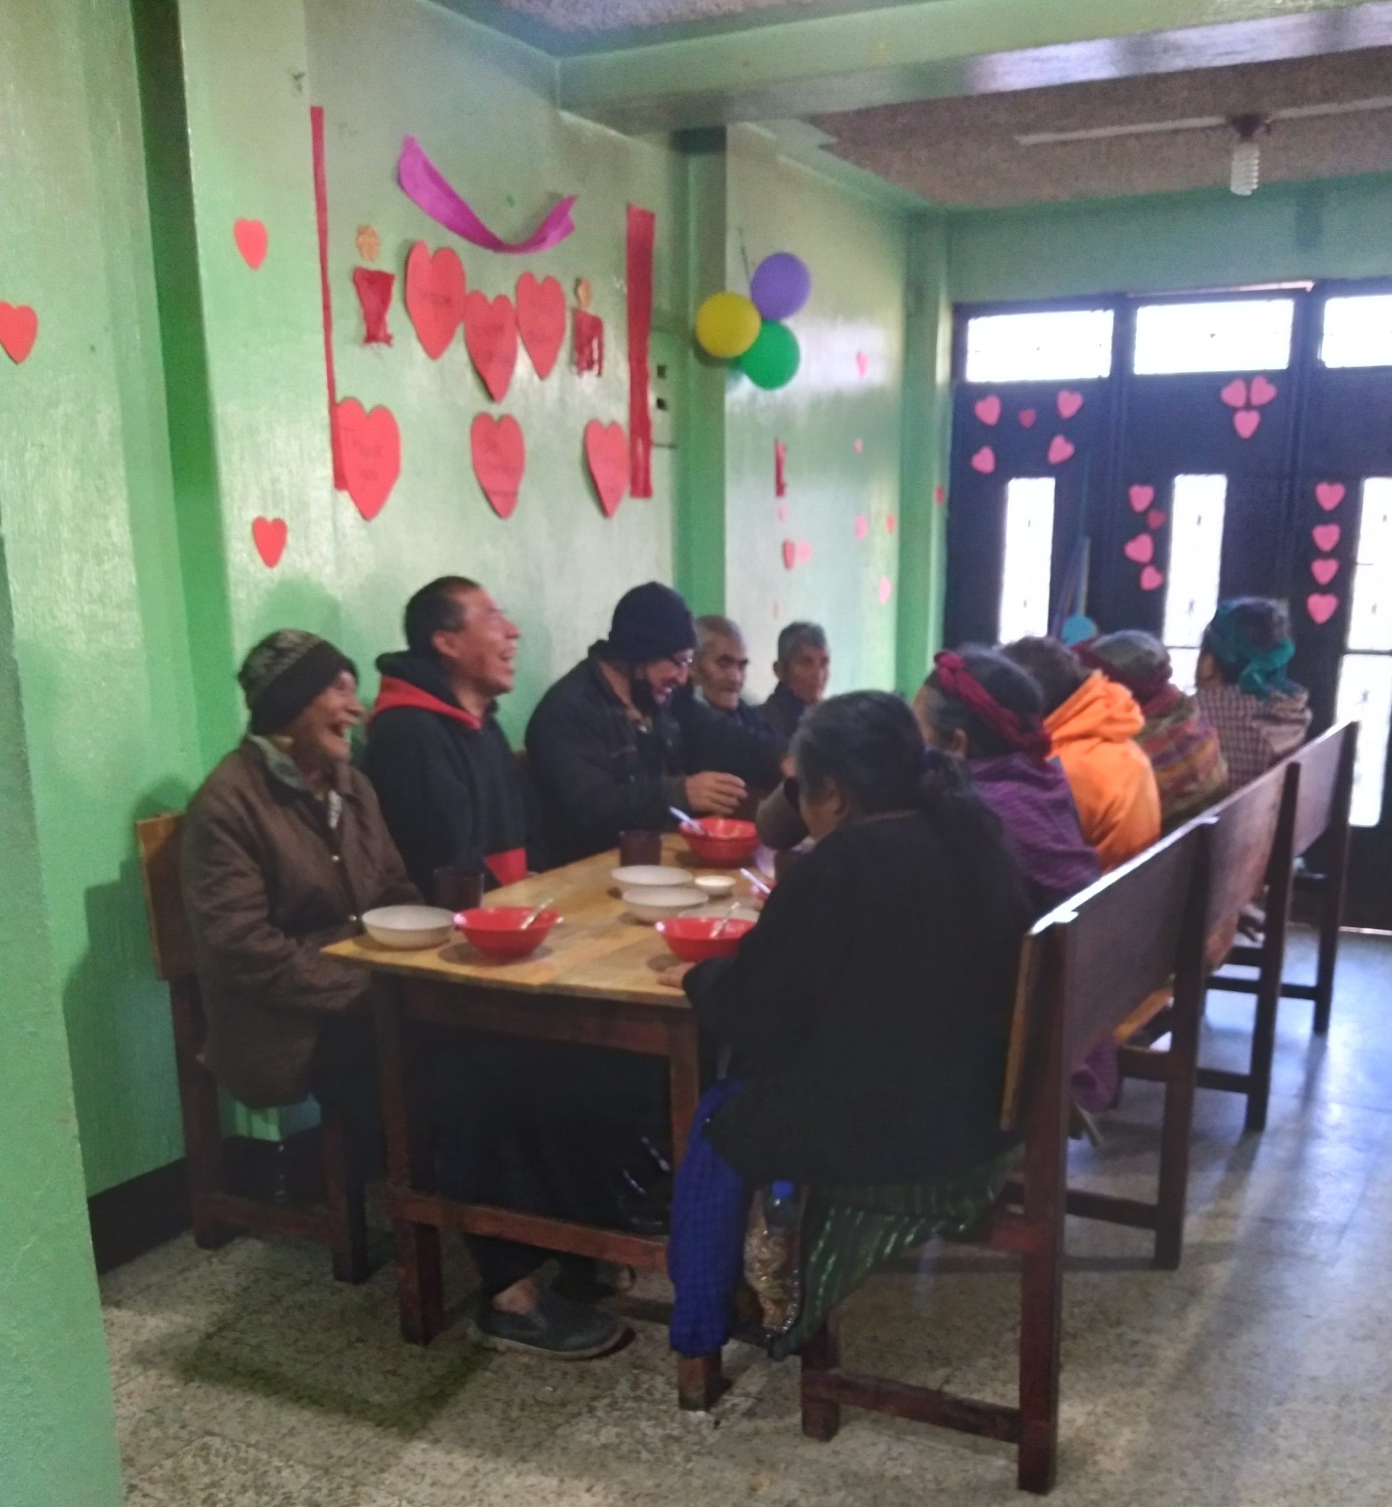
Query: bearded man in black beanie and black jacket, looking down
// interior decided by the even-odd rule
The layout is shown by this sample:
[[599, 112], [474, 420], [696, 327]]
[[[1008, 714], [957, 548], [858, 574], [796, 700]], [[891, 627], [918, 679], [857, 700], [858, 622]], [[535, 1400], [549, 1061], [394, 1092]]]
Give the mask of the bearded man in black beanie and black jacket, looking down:
[[666, 830], [670, 806], [726, 817], [749, 787], [779, 784], [767, 740], [690, 698], [678, 716], [673, 693], [694, 653], [690, 607], [651, 580], [619, 600], [609, 637], [541, 698], [527, 755], [556, 862], [603, 853], [624, 830]]

